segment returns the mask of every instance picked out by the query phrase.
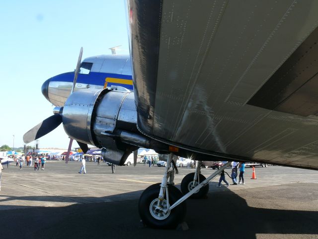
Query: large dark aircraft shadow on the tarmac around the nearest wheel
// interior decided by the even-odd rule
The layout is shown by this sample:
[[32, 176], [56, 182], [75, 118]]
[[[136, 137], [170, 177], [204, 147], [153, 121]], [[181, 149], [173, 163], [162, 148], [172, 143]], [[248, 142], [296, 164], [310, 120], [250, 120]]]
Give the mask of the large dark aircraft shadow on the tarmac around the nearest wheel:
[[[179, 185], [178, 185], [179, 186]], [[216, 183], [211, 182], [210, 187]], [[256, 234], [318, 235], [318, 212], [274, 210], [249, 207], [246, 201], [226, 188], [209, 192], [200, 200], [187, 200], [185, 222], [189, 231], [154, 230], [141, 226], [138, 215], [138, 197], [142, 191], [98, 198], [109, 203], [74, 204], [67, 207], [31, 207], [0, 211], [1, 221], [39, 222], [45, 238], [256, 238]], [[121, 201], [119, 199], [122, 198]], [[85, 196], [8, 197], [5, 200], [35, 200], [50, 202], [85, 202], [96, 198]], [[127, 200], [125, 200], [127, 199]], [[130, 199], [130, 200], [129, 200]], [[69, 200], [69, 201], [67, 201]], [[22, 205], [21, 205], [22, 206]], [[40, 206], [40, 205], [39, 205]], [[82, 228], [85, 230], [83, 231]], [[21, 232], [9, 224], [2, 236], [34, 237], [32, 226]], [[86, 235], [86, 236], [85, 236]], [[144, 236], [143, 236], [144, 235]], [[4, 237], [5, 238], [5, 237]], [[37, 235], [37, 238], [41, 236]]]

